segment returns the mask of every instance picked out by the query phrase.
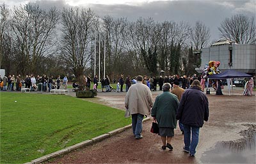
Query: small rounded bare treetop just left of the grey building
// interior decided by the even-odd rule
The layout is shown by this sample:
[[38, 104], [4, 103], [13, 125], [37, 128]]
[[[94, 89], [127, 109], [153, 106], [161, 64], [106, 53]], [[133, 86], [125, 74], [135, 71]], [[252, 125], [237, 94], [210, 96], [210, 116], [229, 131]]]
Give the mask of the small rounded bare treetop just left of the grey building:
[[210, 29], [206, 27], [202, 22], [197, 21], [195, 26], [191, 29], [191, 41], [196, 50], [200, 50], [210, 40]]

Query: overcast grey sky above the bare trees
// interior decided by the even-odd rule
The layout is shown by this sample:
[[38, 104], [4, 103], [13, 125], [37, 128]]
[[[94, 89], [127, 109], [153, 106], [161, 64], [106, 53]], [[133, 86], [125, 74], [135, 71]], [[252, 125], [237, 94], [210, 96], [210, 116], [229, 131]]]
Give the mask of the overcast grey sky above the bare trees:
[[255, 0], [0, 0], [0, 4], [3, 3], [9, 8], [36, 3], [44, 8], [56, 6], [60, 10], [63, 7], [80, 6], [91, 8], [100, 17], [127, 17], [131, 21], [152, 17], [156, 22], [185, 21], [194, 25], [200, 20], [210, 28], [211, 41], [220, 39], [218, 27], [225, 18], [240, 13], [249, 17], [256, 15]]

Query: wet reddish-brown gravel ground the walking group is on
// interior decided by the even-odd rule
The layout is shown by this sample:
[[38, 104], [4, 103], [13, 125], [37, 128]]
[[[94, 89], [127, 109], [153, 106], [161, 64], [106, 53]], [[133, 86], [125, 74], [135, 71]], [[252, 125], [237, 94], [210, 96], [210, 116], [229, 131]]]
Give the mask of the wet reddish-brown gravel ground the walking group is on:
[[[152, 92], [154, 98], [161, 91]], [[135, 140], [126, 130], [102, 142], [83, 147], [48, 163], [255, 163], [255, 96], [243, 96], [236, 88], [228, 95], [207, 94], [209, 121], [200, 129], [196, 156], [182, 151], [183, 135], [179, 127], [172, 139], [173, 151], [161, 149], [160, 137], [150, 133], [150, 121], [143, 123], [143, 136]], [[74, 93], [73, 93], [74, 94]], [[125, 93], [98, 93], [86, 99], [124, 110]]]

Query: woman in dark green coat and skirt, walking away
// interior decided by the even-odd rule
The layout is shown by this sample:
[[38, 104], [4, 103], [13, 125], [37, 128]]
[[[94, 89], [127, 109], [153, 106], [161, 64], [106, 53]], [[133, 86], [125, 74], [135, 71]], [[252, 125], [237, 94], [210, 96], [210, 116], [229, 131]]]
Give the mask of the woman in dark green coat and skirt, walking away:
[[[179, 106], [179, 100], [175, 94], [170, 93], [171, 84], [163, 85], [163, 93], [156, 97], [156, 101], [152, 107], [151, 116], [154, 121], [157, 121], [159, 127], [159, 135], [163, 142], [162, 149], [168, 147], [173, 150], [171, 145], [172, 137], [174, 136], [174, 128], [176, 128], [176, 112]], [[166, 144], [167, 140], [167, 144]]]

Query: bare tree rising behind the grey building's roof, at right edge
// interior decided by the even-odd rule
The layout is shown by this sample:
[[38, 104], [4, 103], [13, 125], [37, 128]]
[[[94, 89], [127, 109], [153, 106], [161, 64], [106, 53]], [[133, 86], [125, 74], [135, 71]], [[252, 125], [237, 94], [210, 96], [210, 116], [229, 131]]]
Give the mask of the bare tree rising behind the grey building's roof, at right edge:
[[218, 27], [221, 36], [228, 40], [234, 40], [239, 44], [256, 43], [255, 17], [246, 15], [234, 15], [226, 18]]

